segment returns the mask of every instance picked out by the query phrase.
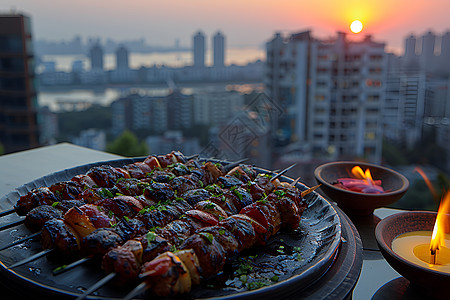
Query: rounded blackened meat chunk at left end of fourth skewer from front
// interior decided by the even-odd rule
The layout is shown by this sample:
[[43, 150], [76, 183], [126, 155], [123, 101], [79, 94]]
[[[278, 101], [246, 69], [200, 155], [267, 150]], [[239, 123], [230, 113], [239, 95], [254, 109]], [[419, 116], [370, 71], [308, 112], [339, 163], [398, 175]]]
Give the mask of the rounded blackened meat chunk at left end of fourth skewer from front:
[[57, 248], [66, 255], [74, 254], [80, 248], [77, 233], [62, 219], [51, 219], [44, 224], [41, 242], [43, 249]]

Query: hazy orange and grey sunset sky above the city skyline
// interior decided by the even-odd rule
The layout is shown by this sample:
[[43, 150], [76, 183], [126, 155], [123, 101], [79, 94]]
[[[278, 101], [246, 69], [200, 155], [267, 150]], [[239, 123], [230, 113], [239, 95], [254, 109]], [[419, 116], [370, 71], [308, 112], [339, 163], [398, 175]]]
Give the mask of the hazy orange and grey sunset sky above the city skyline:
[[[336, 31], [350, 38], [371, 34], [386, 43], [387, 50], [401, 54], [410, 34], [450, 31], [448, 0], [2, 0], [0, 13], [14, 9], [31, 17], [35, 40], [70, 40], [101, 37], [114, 40], [143, 38], [149, 45], [191, 46], [201, 30], [211, 38], [220, 30], [228, 47], [261, 48], [275, 32], [311, 30], [318, 38], [334, 37]], [[352, 34], [351, 21], [364, 29]]]

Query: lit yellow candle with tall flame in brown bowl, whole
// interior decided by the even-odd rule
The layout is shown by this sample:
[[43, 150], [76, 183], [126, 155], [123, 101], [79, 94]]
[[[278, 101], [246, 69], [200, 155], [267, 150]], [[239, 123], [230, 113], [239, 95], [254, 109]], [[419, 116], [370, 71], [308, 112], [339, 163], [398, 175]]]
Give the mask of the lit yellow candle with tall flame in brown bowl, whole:
[[386, 261], [409, 281], [438, 294], [450, 287], [449, 205], [447, 193], [438, 213], [395, 214], [375, 229]]

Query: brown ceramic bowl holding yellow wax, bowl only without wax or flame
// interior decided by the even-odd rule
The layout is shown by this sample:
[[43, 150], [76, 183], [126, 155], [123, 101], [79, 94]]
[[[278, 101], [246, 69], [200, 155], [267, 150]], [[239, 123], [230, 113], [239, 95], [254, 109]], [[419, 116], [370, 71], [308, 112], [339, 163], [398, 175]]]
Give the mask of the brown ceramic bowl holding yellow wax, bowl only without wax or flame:
[[[392, 241], [401, 234], [432, 231], [436, 215], [435, 212], [411, 211], [388, 216], [375, 228], [375, 238], [386, 261], [403, 277], [436, 295], [441, 295], [442, 292], [448, 295], [445, 290], [450, 286], [450, 274], [412, 263], [392, 250]], [[445, 230], [448, 232], [449, 228]]]

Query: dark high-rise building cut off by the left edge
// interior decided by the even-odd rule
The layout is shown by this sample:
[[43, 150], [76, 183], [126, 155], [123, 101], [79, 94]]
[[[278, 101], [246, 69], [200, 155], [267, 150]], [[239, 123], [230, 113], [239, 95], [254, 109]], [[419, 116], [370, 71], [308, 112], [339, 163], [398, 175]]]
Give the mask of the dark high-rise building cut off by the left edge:
[[39, 145], [30, 18], [0, 15], [0, 143], [5, 153]]

